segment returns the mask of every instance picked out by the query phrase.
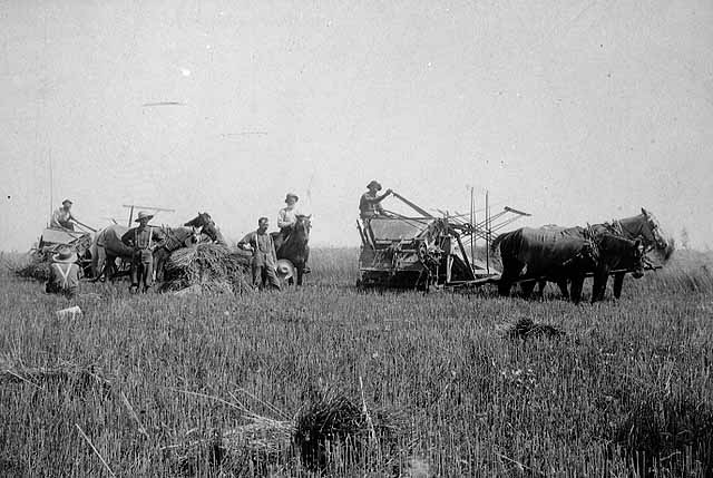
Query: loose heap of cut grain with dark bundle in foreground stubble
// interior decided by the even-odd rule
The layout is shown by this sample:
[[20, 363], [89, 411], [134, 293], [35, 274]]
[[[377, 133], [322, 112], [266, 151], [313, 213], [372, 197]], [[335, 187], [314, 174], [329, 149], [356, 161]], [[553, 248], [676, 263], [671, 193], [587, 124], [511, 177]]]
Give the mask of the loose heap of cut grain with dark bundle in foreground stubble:
[[[273, 420], [254, 413], [232, 430], [213, 430], [209, 437], [165, 447], [174, 465], [195, 474], [209, 461], [237, 475], [267, 475], [271, 467], [300, 459], [313, 471], [339, 469], [350, 464], [372, 468], [393, 466], [410, 453], [402, 446], [408, 428], [403, 413], [370, 408], [333, 388], [312, 392], [293, 420]], [[387, 465], [390, 464], [390, 465]]]

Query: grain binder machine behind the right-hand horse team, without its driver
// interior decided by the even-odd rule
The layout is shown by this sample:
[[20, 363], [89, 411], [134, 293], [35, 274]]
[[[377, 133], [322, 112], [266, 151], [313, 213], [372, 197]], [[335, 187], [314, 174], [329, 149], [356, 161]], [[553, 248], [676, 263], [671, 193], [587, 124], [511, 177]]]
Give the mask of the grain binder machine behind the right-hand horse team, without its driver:
[[[468, 287], [497, 282], [499, 271], [490, 264], [487, 243], [500, 227], [528, 214], [506, 207], [481, 223], [466, 215], [440, 212], [436, 217], [393, 193], [416, 214], [387, 212], [356, 222], [361, 237], [361, 287], [417, 289]], [[472, 203], [472, 201], [471, 201]], [[487, 208], [486, 208], [487, 211]], [[477, 258], [476, 240], [486, 241], [485, 260]]]

